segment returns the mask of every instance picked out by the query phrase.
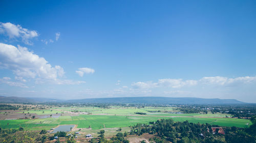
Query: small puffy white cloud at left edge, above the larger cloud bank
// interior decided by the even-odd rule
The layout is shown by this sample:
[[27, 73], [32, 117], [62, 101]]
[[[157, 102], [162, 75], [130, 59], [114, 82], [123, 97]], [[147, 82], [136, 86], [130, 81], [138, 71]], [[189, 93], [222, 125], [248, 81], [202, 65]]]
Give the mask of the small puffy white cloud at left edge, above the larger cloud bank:
[[36, 31], [30, 31], [20, 25], [15, 25], [10, 22], [0, 22], [0, 33], [6, 34], [10, 39], [22, 38], [22, 41], [27, 45], [32, 45], [33, 43], [30, 39], [38, 36]]

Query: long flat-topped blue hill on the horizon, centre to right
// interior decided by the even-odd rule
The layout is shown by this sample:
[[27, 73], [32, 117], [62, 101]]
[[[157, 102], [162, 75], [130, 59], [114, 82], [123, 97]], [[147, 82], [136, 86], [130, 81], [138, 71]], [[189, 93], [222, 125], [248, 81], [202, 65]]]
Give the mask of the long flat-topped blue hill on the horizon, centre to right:
[[205, 99], [194, 97], [117, 97], [67, 100], [79, 103], [145, 103], [145, 104], [245, 104], [235, 99]]

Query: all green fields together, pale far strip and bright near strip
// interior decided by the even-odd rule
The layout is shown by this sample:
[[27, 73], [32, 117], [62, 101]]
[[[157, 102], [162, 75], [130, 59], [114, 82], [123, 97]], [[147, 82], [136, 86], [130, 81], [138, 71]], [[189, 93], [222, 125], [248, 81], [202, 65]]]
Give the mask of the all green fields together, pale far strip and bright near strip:
[[[236, 126], [236, 127], [248, 127], [250, 125], [249, 120], [245, 119], [232, 119], [232, 118], [210, 118], [210, 117], [230, 117], [228, 114], [208, 112], [208, 114], [202, 113], [183, 113], [176, 114], [170, 112], [179, 111], [177, 107], [120, 107], [111, 106], [110, 108], [101, 107], [59, 107], [50, 108], [44, 110], [22, 110], [20, 113], [36, 113], [37, 115], [53, 115], [63, 113], [65, 111], [72, 112], [90, 112], [93, 115], [79, 115], [79, 116], [60, 116], [59, 118], [45, 118], [45, 119], [28, 119], [28, 120], [0, 120], [0, 126], [2, 128], [19, 128], [22, 126], [26, 130], [49, 130], [57, 125], [75, 124], [77, 128], [88, 128], [89, 126], [94, 129], [102, 128], [119, 128], [128, 127], [137, 123], [149, 123], [157, 121], [159, 119], [172, 118], [174, 121], [186, 121], [192, 123], [209, 123], [219, 126]], [[140, 116], [135, 112], [146, 113], [145, 116]], [[95, 115], [94, 115], [95, 114]], [[114, 116], [117, 115], [117, 116]], [[120, 116], [118, 116], [120, 115]], [[125, 116], [127, 115], [127, 116]], [[156, 117], [153, 117], [156, 116]], [[170, 117], [161, 117], [170, 116]], [[207, 117], [207, 118], [200, 118]]]

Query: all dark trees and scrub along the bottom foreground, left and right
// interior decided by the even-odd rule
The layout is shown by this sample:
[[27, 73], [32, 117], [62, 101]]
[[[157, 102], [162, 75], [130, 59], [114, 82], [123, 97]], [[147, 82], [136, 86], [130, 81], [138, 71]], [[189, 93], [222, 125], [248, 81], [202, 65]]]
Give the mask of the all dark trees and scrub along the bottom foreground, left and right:
[[[231, 143], [231, 142], [255, 142], [256, 141], [256, 118], [251, 118], [252, 125], [249, 128], [237, 128], [237, 127], [223, 127], [225, 134], [218, 133], [212, 134], [211, 127], [218, 127], [216, 125], [174, 122], [172, 119], [162, 119], [150, 124], [136, 124], [130, 126], [131, 131], [119, 132], [116, 136], [106, 139], [104, 138], [104, 130], [100, 130], [100, 135], [97, 138], [91, 139], [91, 142], [96, 143], [108, 143], [108, 142], [124, 142], [127, 143], [127, 136], [129, 135], [142, 135], [143, 133], [150, 133], [155, 135], [154, 138], [150, 138], [151, 142], [163, 143], [163, 142], [217, 142], [217, 143]], [[119, 129], [121, 131], [121, 128]], [[65, 142], [76, 142], [75, 134], [67, 135], [66, 132], [57, 132], [53, 134], [47, 134], [46, 130], [36, 131], [24, 131], [24, 128], [19, 129], [2, 129], [0, 128], [0, 142], [45, 142], [47, 140], [53, 140], [54, 136], [65, 138]], [[126, 138], [124, 138], [126, 137]], [[128, 137], [129, 138], [129, 137]], [[55, 142], [60, 142], [59, 139]], [[145, 142], [145, 141], [141, 141]]]

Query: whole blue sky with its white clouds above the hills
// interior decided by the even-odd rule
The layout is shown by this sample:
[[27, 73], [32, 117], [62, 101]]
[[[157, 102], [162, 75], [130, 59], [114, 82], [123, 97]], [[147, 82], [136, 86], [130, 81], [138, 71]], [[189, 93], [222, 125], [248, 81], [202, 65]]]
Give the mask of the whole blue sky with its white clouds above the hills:
[[0, 95], [256, 102], [255, 1], [1, 1]]

